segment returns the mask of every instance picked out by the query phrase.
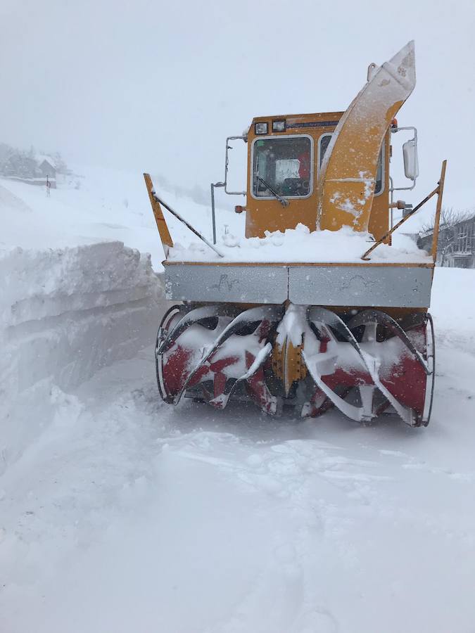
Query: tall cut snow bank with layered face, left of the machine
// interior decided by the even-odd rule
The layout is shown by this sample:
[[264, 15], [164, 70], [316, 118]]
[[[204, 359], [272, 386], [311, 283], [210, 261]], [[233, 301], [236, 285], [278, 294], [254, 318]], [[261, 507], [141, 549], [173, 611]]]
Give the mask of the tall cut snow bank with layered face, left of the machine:
[[51, 421], [61, 394], [150, 345], [163, 288], [120, 242], [0, 251], [0, 472]]

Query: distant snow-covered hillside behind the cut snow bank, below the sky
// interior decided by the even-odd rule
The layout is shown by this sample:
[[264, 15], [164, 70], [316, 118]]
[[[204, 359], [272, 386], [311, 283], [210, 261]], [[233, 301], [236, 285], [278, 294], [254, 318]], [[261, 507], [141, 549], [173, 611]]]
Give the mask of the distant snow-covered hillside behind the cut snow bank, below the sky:
[[[42, 250], [121, 241], [151, 253], [153, 267], [160, 271], [163, 248], [143, 175], [97, 167], [77, 167], [77, 172], [84, 175], [60, 180], [59, 188], [51, 190], [49, 198], [43, 187], [0, 178], [0, 250], [10, 245]], [[160, 178], [153, 174], [152, 179], [165, 201], [211, 238], [210, 204], [198, 204], [163, 189]], [[236, 203], [241, 201], [236, 198]], [[241, 230], [238, 227], [243, 218], [239, 215], [222, 208], [217, 209], [216, 215], [218, 235], [229, 227], [236, 232]], [[179, 243], [187, 245], [196, 239], [174, 217], [167, 215], [167, 222]]]

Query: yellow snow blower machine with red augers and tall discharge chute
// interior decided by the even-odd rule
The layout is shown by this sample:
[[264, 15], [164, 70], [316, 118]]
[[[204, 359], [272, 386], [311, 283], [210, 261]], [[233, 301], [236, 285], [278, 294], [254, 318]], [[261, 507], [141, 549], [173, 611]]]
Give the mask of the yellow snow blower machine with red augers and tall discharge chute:
[[[179, 302], [163, 316], [156, 343], [165, 402], [186, 396], [222, 409], [230, 398], [246, 399], [267, 414], [289, 405], [316, 417], [336, 407], [358, 423], [382, 414], [413, 427], [429, 423], [428, 309], [446, 161], [422, 202], [394, 200], [419, 173], [417, 132], [395, 120], [414, 84], [411, 41], [383, 65], [369, 65], [345, 112], [255, 117], [243, 136], [229, 136], [224, 181], [211, 185], [213, 241], [144, 174], [165, 250], [165, 296]], [[391, 139], [403, 130], [411, 138], [401, 177], [403, 166], [409, 180], [395, 187]], [[247, 188], [232, 192], [229, 142], [237, 139], [247, 143]], [[232, 215], [245, 217], [237, 243], [216, 240], [215, 187], [246, 196], [235, 208], [243, 215]], [[430, 198], [431, 253], [396, 248], [394, 231]], [[201, 250], [174, 247], [164, 209], [194, 232]], [[285, 247], [289, 236], [293, 248]]]

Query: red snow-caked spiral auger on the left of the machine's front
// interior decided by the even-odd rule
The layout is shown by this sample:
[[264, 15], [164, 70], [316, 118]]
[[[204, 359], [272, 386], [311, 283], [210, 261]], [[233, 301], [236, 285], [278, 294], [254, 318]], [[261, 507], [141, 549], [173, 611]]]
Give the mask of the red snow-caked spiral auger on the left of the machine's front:
[[272, 351], [267, 336], [281, 314], [281, 307], [270, 305], [248, 309], [233, 319], [217, 314], [216, 307], [206, 307], [175, 321], [157, 348], [163, 381], [172, 383], [171, 402], [177, 404], [186, 390], [200, 385], [208, 403], [222, 409], [236, 386], [245, 383], [259, 406], [275, 413], [277, 399], [267, 389], [262, 365]]

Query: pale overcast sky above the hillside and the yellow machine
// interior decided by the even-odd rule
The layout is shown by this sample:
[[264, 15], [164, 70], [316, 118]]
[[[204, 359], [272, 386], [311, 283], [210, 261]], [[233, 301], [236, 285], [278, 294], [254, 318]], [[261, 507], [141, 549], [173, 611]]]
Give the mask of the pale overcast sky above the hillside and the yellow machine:
[[416, 41], [420, 184], [475, 205], [475, 1], [1, 0], [0, 141], [208, 188], [255, 115], [344, 110]]

